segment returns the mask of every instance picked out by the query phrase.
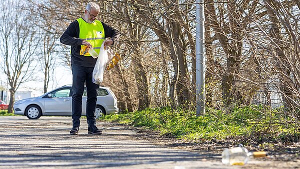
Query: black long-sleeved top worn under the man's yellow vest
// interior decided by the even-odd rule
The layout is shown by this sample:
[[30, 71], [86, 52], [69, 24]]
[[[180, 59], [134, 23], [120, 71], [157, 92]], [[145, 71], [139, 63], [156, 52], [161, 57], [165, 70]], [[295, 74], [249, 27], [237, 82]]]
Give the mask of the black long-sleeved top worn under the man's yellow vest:
[[[113, 43], [115, 43], [120, 37], [120, 32], [102, 21], [101, 23], [104, 28], [105, 38], [110, 37]], [[97, 60], [96, 58], [86, 57], [79, 54], [82, 40], [83, 39], [79, 38], [79, 23], [77, 20], [71, 22], [60, 37], [61, 43], [71, 45], [71, 64], [94, 67]]]

